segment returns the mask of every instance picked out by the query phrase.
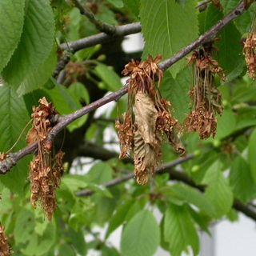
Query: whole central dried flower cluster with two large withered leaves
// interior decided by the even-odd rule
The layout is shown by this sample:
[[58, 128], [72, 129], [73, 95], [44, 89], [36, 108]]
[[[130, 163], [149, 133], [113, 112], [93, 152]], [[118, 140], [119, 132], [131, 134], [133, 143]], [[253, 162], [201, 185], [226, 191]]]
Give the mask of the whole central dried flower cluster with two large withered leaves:
[[134, 174], [138, 184], [145, 184], [154, 168], [161, 163], [161, 144], [166, 136], [174, 150], [185, 154], [182, 142], [174, 133], [178, 121], [172, 117], [170, 102], [161, 98], [158, 88], [162, 81], [162, 70], [158, 68], [161, 55], [149, 56], [145, 62], [132, 62], [125, 66], [124, 75], [130, 75], [128, 88], [128, 110], [122, 122], [116, 122], [121, 146], [119, 158], [128, 152], [134, 156]]

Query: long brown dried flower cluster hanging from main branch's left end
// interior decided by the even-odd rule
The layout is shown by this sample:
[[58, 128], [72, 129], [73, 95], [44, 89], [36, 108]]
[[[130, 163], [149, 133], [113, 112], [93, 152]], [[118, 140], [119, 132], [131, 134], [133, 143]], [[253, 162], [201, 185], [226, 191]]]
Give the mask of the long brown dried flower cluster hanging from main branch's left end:
[[40, 99], [39, 103], [38, 107], [33, 106], [33, 127], [26, 137], [28, 144], [38, 142], [37, 154], [30, 162], [30, 202], [34, 208], [39, 202], [50, 221], [56, 208], [55, 188], [59, 186], [63, 172], [64, 153], [60, 151], [51, 158], [52, 142], [47, 142], [46, 136], [53, 126], [51, 120], [58, 112], [46, 98]]

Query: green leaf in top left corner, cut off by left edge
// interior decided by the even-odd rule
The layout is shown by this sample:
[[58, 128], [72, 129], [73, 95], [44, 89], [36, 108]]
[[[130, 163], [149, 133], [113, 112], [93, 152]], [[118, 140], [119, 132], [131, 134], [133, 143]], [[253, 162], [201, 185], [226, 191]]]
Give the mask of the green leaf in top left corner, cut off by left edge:
[[18, 46], [24, 22], [25, 0], [0, 2], [0, 73]]

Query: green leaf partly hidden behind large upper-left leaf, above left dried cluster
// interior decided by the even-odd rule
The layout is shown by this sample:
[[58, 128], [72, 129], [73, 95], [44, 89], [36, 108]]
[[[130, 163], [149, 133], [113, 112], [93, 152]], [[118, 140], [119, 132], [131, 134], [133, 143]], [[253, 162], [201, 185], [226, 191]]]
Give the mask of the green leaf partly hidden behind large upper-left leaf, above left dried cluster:
[[37, 70], [27, 74], [26, 78], [23, 79], [21, 85], [18, 86], [18, 96], [30, 93], [32, 90], [37, 90], [42, 87], [51, 77], [57, 63], [57, 56], [54, 50], [50, 53], [46, 61], [38, 66]]

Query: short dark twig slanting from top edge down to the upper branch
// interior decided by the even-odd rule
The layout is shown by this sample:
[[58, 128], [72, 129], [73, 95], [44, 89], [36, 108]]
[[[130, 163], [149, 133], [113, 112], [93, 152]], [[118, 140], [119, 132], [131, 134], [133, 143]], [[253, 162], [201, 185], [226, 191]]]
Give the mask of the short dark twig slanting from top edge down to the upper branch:
[[89, 18], [90, 22], [93, 23], [96, 28], [106, 34], [114, 34], [116, 31], [116, 26], [112, 26], [109, 24], [106, 24], [105, 22], [101, 22], [98, 19], [94, 17], [94, 14], [90, 11], [90, 9], [85, 5], [82, 5], [78, 0], [72, 0], [74, 3], [74, 6], [80, 10], [80, 14], [85, 15], [87, 18]]

